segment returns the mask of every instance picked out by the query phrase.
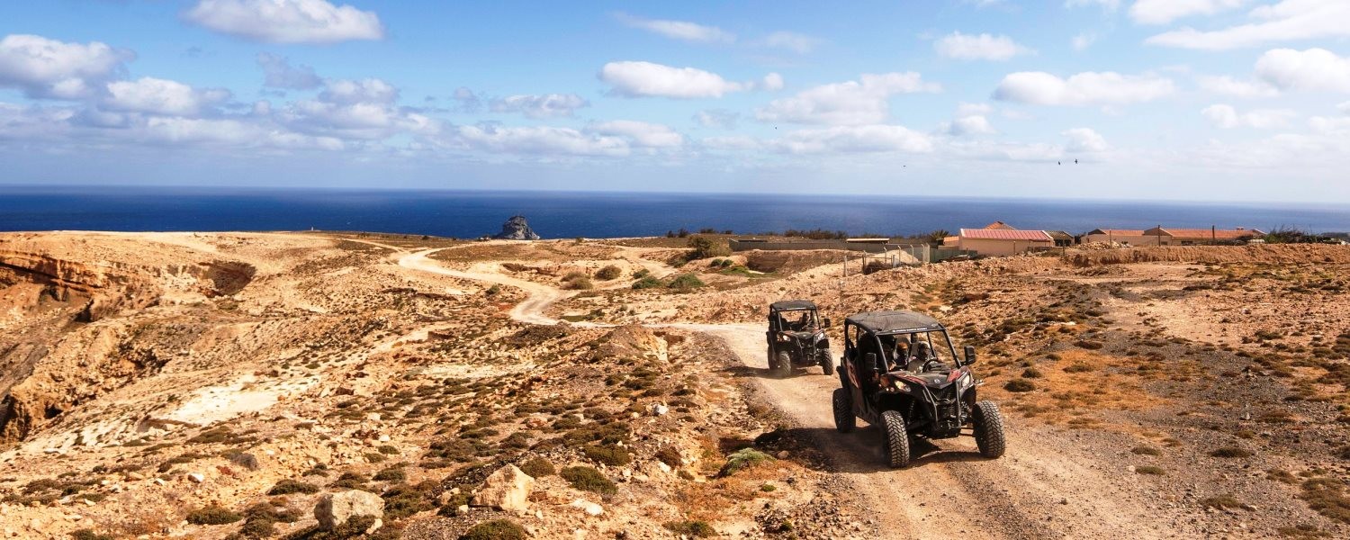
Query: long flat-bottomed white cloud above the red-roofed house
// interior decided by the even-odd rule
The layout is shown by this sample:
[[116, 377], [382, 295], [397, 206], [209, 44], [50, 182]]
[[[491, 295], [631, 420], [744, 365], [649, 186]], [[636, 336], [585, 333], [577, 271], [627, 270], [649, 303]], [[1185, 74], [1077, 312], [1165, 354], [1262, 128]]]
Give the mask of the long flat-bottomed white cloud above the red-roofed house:
[[1035, 105], [1123, 105], [1152, 101], [1174, 90], [1172, 80], [1152, 74], [1084, 72], [1060, 78], [1045, 72], [1010, 73], [994, 97]]

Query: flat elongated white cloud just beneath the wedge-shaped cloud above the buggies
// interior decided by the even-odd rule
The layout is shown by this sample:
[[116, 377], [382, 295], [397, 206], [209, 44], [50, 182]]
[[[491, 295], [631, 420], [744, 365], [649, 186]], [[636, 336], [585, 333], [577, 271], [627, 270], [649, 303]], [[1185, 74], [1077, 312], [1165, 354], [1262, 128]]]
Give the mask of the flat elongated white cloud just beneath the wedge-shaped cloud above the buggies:
[[834, 126], [796, 130], [774, 140], [772, 146], [790, 154], [933, 151], [933, 140], [927, 135], [903, 126]]

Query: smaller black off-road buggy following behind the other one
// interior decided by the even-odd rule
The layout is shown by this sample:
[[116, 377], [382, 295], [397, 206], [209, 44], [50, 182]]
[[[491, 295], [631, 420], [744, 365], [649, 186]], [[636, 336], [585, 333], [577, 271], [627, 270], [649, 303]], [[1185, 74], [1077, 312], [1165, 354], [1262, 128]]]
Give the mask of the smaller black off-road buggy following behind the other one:
[[768, 369], [779, 377], [791, 375], [796, 369], [821, 366], [826, 375], [834, 374], [830, 359], [830, 340], [825, 328], [829, 319], [821, 319], [815, 302], [810, 300], [783, 300], [768, 306]]

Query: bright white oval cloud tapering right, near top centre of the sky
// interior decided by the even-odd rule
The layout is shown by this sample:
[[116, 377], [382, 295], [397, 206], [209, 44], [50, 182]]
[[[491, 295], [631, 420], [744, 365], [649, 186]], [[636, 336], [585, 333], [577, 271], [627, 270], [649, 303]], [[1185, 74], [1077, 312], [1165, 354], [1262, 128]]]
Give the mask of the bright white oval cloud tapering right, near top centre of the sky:
[[612, 93], [625, 97], [722, 97], [752, 86], [702, 69], [633, 61], [606, 63], [599, 80], [613, 86]]

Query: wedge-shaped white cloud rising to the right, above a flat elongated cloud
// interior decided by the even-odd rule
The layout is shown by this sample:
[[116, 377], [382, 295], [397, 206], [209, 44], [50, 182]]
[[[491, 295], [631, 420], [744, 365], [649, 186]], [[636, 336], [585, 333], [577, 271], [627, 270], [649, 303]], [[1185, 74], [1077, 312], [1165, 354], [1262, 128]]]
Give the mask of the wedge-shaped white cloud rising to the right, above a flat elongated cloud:
[[938, 92], [941, 86], [923, 81], [914, 72], [865, 73], [857, 81], [815, 86], [796, 96], [774, 100], [755, 112], [763, 122], [801, 124], [880, 124], [890, 116], [891, 96]]

